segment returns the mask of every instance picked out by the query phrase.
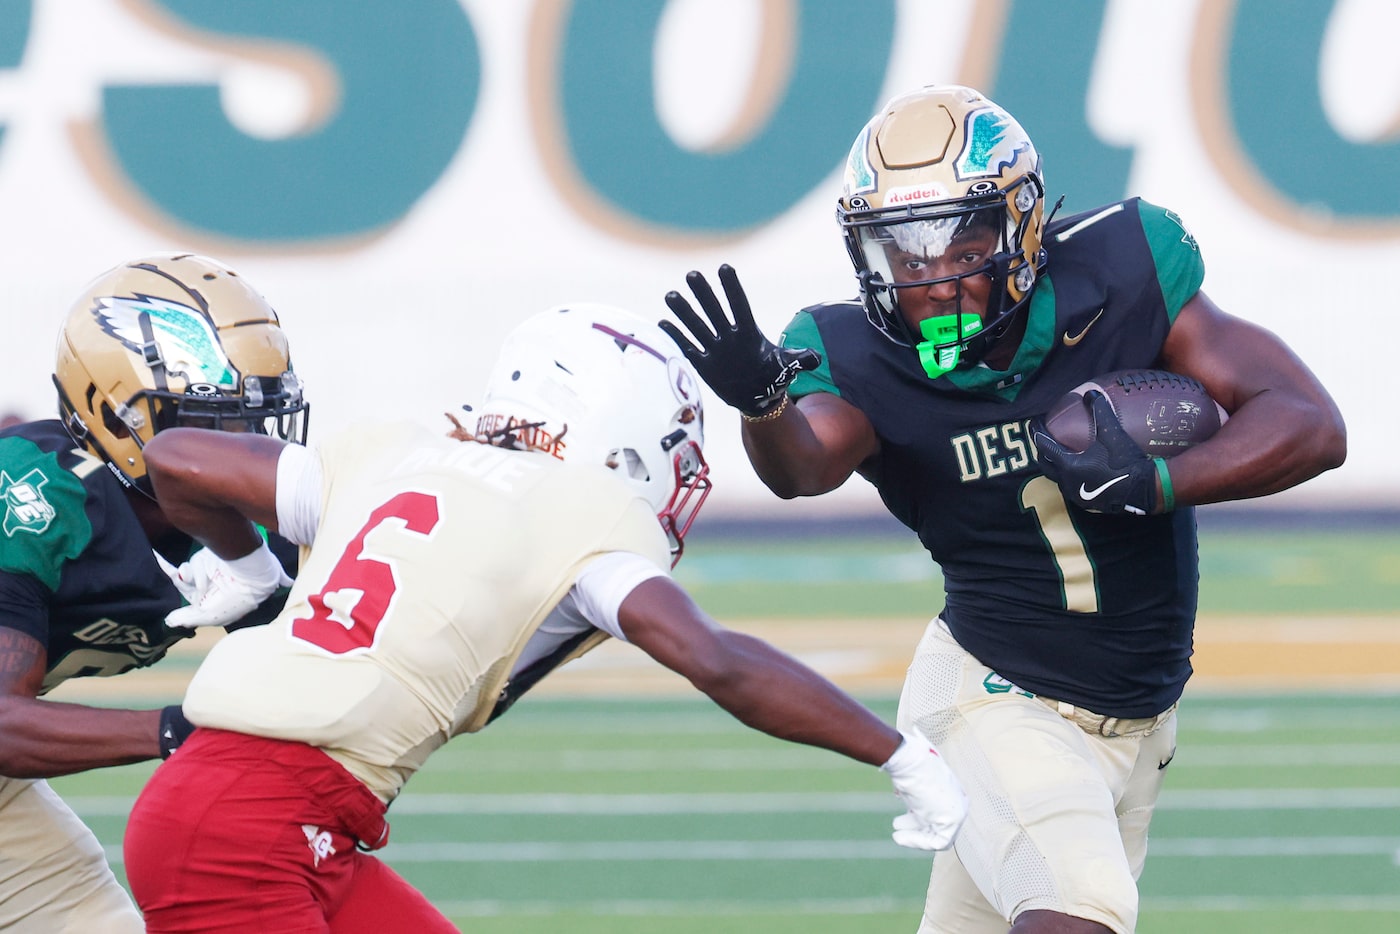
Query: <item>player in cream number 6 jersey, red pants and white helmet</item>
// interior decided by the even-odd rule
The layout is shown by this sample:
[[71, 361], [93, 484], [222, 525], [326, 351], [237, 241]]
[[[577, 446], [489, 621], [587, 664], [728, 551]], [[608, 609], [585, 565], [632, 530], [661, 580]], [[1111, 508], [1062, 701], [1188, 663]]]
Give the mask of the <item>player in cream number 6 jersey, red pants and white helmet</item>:
[[[356, 426], [316, 448], [197, 428], [146, 449], [188, 564], [183, 625], [276, 580], [255, 522], [304, 546], [284, 612], [221, 639], [197, 725], [147, 784], [126, 872], [148, 931], [456, 930], [365, 850], [428, 755], [609, 636], [745, 724], [881, 766], [895, 840], [945, 849], [966, 800], [917, 732], [728, 630], [671, 578], [710, 489], [700, 384], [655, 325], [571, 305], [507, 339], [470, 428]], [[659, 522], [658, 522], [659, 520]]]

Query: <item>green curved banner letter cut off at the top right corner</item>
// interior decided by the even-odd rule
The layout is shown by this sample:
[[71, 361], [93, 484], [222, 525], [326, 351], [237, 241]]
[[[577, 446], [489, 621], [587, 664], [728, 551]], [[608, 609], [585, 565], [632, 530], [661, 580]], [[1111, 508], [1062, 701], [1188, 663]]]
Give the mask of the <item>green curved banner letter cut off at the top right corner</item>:
[[1295, 207], [1336, 220], [1400, 218], [1400, 140], [1352, 143], [1323, 109], [1319, 73], [1333, 0], [1238, 0], [1226, 27], [1226, 111], [1243, 151]]

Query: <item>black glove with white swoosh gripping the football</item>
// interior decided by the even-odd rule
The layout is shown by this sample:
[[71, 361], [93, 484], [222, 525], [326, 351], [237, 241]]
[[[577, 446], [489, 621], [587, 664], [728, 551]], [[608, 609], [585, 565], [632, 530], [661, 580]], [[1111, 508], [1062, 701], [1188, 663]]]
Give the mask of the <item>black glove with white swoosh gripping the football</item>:
[[1149, 458], [1128, 437], [1106, 395], [1089, 389], [1084, 398], [1089, 405], [1092, 428], [1089, 447], [1078, 454], [1050, 437], [1044, 416], [1030, 421], [1030, 437], [1040, 452], [1040, 471], [1060, 485], [1065, 500], [1089, 513], [1155, 513], [1161, 458]]

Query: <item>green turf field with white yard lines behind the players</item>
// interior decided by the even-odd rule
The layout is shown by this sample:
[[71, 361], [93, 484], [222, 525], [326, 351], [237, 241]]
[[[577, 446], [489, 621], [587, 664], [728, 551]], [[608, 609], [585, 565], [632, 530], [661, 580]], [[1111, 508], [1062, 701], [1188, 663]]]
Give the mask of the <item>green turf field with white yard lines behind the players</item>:
[[[1203, 625], [1400, 626], [1400, 536], [1215, 535], [1203, 562]], [[704, 543], [679, 577], [722, 618], [937, 609], [889, 541]], [[893, 717], [892, 690], [865, 699]], [[151, 767], [53, 781], [113, 863]], [[913, 934], [928, 860], [889, 842], [896, 811], [878, 772], [699, 697], [542, 693], [434, 756], [382, 854], [476, 934]], [[1189, 690], [1142, 896], [1145, 934], [1400, 930], [1400, 692]]]

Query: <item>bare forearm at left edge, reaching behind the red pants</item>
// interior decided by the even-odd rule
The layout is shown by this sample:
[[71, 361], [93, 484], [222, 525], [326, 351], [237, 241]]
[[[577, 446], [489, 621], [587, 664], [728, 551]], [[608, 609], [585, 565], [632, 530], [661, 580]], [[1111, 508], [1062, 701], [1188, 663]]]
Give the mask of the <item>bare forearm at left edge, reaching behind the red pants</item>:
[[0, 702], [0, 774], [55, 776], [160, 756], [158, 710], [108, 710], [52, 700]]

